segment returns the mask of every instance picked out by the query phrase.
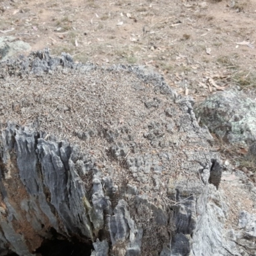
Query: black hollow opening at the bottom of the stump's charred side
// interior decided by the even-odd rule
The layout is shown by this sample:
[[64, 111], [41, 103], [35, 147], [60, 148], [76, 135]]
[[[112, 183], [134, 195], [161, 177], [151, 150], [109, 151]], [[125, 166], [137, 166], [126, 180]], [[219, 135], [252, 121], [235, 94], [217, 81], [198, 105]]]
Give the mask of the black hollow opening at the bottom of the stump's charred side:
[[52, 239], [45, 239], [42, 246], [36, 250], [36, 255], [90, 256], [92, 254], [92, 243], [81, 242], [76, 237], [72, 237], [70, 240], [64, 239], [54, 228], [52, 228], [51, 233]]

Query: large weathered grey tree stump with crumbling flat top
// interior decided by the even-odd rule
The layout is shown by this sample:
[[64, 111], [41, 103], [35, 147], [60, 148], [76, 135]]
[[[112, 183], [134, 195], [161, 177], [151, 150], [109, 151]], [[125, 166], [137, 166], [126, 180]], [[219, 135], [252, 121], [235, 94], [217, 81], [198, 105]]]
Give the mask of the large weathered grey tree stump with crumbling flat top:
[[83, 255], [242, 255], [211, 135], [160, 76], [45, 50], [0, 77], [0, 255], [75, 238]]

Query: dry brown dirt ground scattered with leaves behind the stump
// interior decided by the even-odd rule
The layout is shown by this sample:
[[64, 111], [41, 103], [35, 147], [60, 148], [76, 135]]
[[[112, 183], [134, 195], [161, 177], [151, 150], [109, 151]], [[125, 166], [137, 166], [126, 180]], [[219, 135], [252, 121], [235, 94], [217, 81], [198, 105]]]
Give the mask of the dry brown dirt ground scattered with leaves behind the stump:
[[196, 102], [230, 87], [256, 97], [255, 20], [256, 0], [0, 0], [0, 36], [79, 62], [145, 65]]

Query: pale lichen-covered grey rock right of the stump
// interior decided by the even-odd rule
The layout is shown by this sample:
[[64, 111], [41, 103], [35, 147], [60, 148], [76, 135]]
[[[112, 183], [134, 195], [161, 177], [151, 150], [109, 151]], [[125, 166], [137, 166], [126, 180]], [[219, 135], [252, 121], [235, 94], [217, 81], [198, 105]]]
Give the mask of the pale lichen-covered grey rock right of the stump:
[[256, 141], [256, 103], [242, 92], [218, 92], [195, 108], [203, 124], [223, 140], [241, 147]]

